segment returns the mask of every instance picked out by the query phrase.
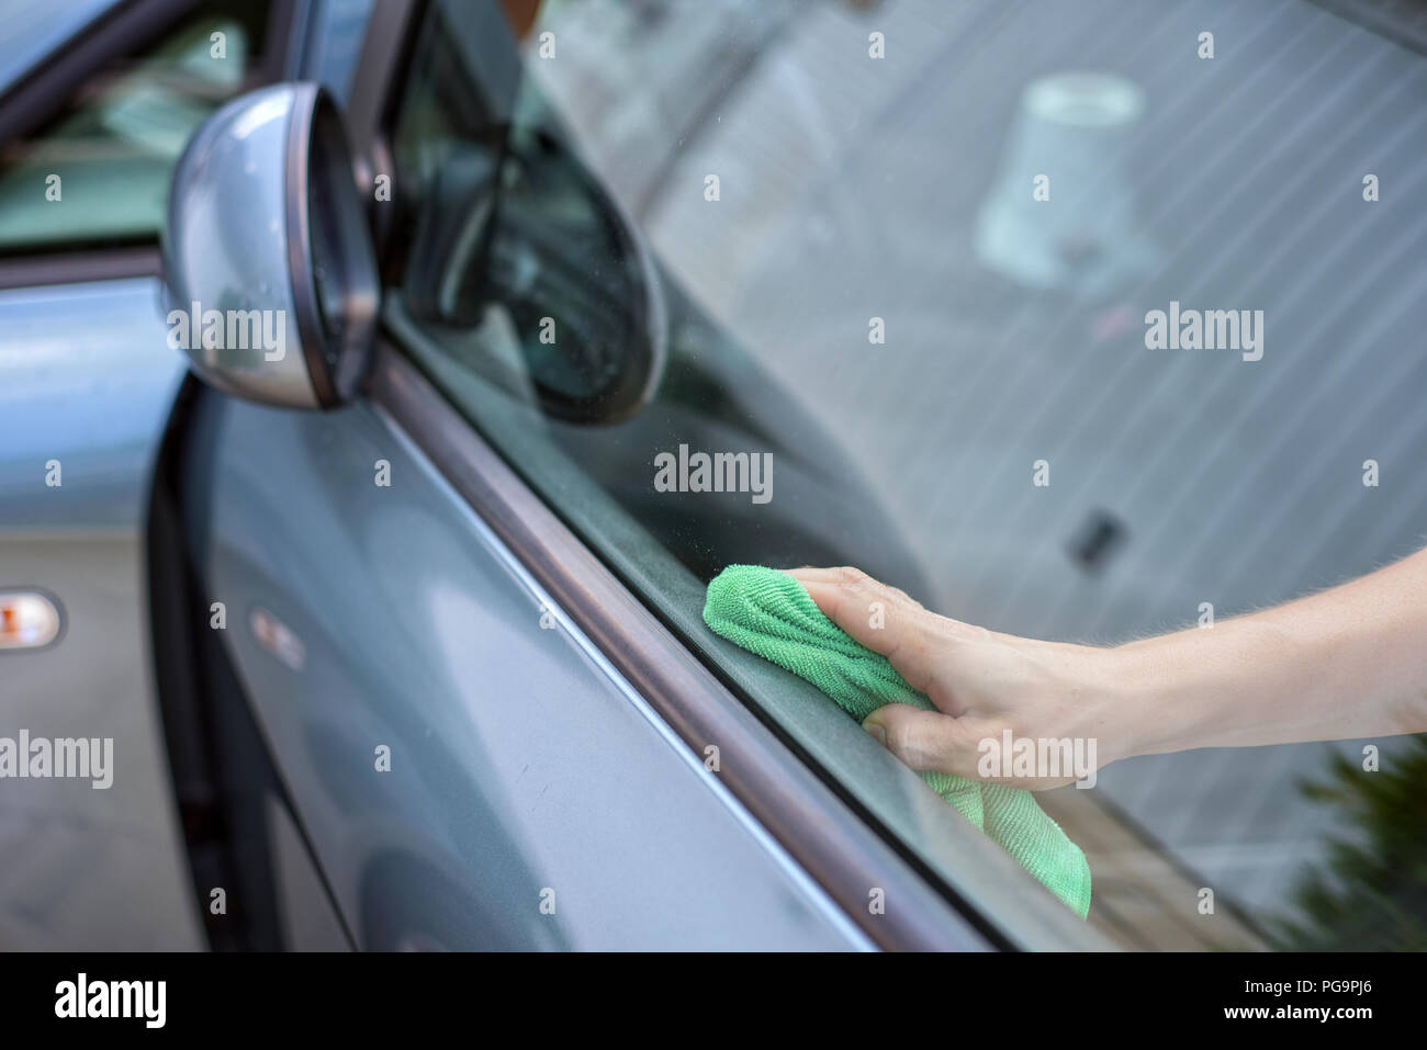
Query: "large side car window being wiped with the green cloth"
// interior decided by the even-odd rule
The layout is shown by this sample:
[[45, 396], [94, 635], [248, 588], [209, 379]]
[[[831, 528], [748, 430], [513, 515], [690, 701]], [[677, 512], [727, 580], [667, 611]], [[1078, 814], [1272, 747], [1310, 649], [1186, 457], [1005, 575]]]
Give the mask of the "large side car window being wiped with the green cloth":
[[[1427, 60], [1353, 11], [589, 1], [497, 34], [435, 3], [395, 108], [387, 321], [695, 651], [955, 869], [869, 740], [708, 636], [704, 585], [850, 564], [1113, 642], [1416, 549]], [[1156, 311], [1196, 310], [1213, 345], [1157, 342]], [[701, 491], [698, 454], [771, 471]], [[1420, 802], [1417, 738], [1139, 758], [1036, 797], [1119, 943], [1390, 946], [1326, 903], [1374, 892], [1410, 822], [1334, 786], [1367, 745]]]

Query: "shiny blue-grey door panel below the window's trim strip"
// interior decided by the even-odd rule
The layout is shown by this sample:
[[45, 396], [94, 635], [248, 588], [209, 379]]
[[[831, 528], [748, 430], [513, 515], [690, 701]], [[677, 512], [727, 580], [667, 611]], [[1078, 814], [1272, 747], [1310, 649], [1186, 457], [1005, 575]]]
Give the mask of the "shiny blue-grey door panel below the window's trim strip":
[[193, 444], [197, 561], [360, 947], [866, 946], [380, 409], [205, 395]]

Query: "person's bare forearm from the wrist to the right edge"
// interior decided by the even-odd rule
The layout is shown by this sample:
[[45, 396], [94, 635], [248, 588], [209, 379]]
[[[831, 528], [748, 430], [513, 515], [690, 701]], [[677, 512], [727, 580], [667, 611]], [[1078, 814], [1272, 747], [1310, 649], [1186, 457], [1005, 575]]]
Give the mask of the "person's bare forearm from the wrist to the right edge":
[[1427, 732], [1427, 551], [1109, 652], [1124, 753]]

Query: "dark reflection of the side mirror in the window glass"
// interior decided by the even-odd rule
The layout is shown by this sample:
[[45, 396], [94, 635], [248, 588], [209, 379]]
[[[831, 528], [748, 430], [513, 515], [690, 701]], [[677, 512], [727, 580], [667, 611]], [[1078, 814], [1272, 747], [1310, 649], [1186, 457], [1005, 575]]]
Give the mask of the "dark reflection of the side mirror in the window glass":
[[424, 108], [400, 121], [411, 133], [397, 143], [402, 195], [418, 201], [404, 217], [407, 310], [428, 327], [501, 334], [515, 355], [472, 344], [469, 368], [554, 418], [625, 418], [649, 397], [665, 354], [654, 267], [538, 100], [521, 93], [501, 121], [497, 106], [469, 104], [489, 93], [465, 70], [447, 54], [425, 71], [428, 91], [408, 96], [415, 108], [464, 91], [465, 127], [434, 128]]

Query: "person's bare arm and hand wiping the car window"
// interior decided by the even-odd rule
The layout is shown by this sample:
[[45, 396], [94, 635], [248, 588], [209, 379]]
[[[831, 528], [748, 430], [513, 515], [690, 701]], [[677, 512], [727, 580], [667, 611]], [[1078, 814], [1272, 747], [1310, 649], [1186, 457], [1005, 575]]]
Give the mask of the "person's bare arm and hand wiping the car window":
[[1102, 766], [1190, 748], [1427, 732], [1427, 551], [1310, 598], [1113, 648], [938, 616], [856, 569], [792, 575], [936, 703], [889, 705], [863, 723], [915, 769], [977, 776], [979, 742], [1006, 729], [1095, 739]]

